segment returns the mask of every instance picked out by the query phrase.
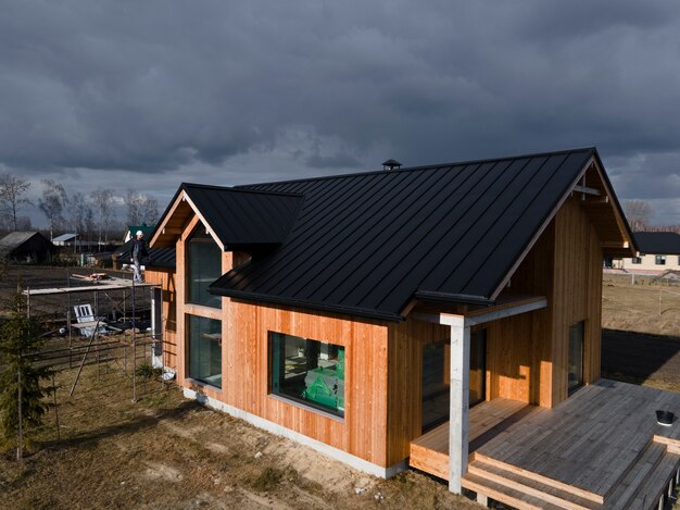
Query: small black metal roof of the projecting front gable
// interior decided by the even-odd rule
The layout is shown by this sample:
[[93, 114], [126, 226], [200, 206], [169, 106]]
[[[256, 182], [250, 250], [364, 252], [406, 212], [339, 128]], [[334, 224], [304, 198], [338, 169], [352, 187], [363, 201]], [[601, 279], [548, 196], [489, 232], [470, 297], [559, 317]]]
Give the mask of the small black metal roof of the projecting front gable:
[[[199, 184], [181, 185], [187, 196], [227, 247], [280, 245], [294, 223], [303, 202], [299, 194], [224, 188]], [[160, 222], [161, 223], [161, 222]]]

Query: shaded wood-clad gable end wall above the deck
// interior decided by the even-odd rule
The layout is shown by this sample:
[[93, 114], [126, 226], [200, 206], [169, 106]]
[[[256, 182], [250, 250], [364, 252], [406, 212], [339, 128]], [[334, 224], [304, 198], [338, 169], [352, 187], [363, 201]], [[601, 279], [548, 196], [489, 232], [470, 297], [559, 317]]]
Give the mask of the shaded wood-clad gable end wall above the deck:
[[511, 291], [543, 295], [547, 309], [488, 324], [488, 398], [554, 407], [567, 398], [569, 326], [585, 321], [585, 384], [600, 377], [602, 250], [569, 198], [513, 275]]

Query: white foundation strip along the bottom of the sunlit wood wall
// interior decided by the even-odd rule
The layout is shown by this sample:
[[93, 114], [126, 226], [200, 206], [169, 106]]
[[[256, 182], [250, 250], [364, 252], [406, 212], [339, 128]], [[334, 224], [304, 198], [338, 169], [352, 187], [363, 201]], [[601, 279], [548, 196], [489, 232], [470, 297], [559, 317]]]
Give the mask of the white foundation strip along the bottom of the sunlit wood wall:
[[295, 443], [300, 443], [301, 445], [308, 446], [310, 448], [327, 455], [332, 459], [339, 460], [340, 462], [343, 462], [356, 470], [363, 471], [364, 473], [368, 473], [374, 476], [378, 476], [380, 478], [391, 478], [392, 476], [407, 469], [406, 460], [398, 462], [396, 464], [390, 465], [388, 468], [382, 468], [378, 464], [374, 464], [373, 462], [368, 462], [367, 460], [348, 453], [347, 451], [342, 451], [330, 445], [326, 445], [325, 443], [305, 436], [304, 434], [300, 434], [299, 432], [286, 428], [278, 423], [270, 422], [269, 420], [265, 420], [264, 418], [243, 411], [242, 409], [238, 409], [234, 406], [229, 406], [228, 403], [221, 402], [219, 400], [215, 400], [214, 398], [207, 397], [206, 395], [199, 394], [193, 389], [184, 388], [184, 396], [186, 398], [194, 399], [198, 402], [207, 406], [209, 408], [230, 414], [234, 418], [240, 418], [251, 425], [267, 431], [270, 434], [286, 437], [287, 439], [294, 440]]

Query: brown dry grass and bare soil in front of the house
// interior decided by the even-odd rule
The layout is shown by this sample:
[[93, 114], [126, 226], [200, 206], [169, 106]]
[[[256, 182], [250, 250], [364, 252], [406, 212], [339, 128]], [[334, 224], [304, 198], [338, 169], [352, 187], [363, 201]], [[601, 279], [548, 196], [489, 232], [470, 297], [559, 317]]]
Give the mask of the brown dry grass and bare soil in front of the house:
[[58, 377], [61, 439], [51, 412], [22, 465], [13, 450], [0, 456], [0, 508], [479, 508], [414, 472], [365, 475], [186, 400], [174, 385], [153, 381], [133, 403], [113, 365], [100, 376], [87, 366], [68, 398], [73, 377]]

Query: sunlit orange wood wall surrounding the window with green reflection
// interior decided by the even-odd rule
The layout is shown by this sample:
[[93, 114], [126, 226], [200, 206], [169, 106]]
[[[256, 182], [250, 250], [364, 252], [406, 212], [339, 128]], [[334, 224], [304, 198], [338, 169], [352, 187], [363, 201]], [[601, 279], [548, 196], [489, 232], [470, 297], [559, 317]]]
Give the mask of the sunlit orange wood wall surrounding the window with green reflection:
[[[225, 300], [223, 390], [217, 398], [369, 462], [390, 465], [387, 458], [387, 326], [339, 315]], [[270, 332], [344, 346], [344, 419], [268, 395]]]

